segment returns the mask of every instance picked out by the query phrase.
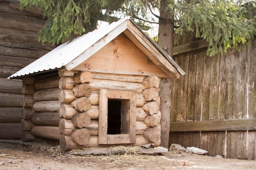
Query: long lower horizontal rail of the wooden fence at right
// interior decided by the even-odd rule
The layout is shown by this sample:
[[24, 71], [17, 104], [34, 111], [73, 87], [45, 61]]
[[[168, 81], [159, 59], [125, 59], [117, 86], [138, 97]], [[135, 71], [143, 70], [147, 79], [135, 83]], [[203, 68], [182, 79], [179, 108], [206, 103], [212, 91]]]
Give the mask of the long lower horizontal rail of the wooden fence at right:
[[256, 130], [256, 119], [171, 122], [170, 132]]

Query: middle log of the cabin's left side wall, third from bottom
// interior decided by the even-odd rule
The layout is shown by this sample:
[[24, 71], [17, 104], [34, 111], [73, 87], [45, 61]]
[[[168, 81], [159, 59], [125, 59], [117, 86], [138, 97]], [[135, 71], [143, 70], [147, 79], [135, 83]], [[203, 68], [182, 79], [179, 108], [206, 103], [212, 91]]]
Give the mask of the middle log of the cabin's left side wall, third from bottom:
[[33, 105], [35, 112], [58, 112], [60, 108], [58, 100], [40, 101]]

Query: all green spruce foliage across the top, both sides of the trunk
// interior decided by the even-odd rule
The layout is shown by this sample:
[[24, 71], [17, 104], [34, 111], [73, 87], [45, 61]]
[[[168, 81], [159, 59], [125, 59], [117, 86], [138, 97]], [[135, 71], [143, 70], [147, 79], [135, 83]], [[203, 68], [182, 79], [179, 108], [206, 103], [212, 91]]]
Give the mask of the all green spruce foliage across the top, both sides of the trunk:
[[[39, 40], [59, 44], [96, 29], [97, 20], [119, 12], [146, 26], [158, 23], [161, 0], [21, 0], [21, 9], [44, 8], [48, 17]], [[207, 55], [240, 50], [256, 35], [255, 0], [167, 0], [166, 13], [174, 16], [175, 32], [195, 32], [209, 41]], [[149, 17], [151, 13], [154, 17]]]

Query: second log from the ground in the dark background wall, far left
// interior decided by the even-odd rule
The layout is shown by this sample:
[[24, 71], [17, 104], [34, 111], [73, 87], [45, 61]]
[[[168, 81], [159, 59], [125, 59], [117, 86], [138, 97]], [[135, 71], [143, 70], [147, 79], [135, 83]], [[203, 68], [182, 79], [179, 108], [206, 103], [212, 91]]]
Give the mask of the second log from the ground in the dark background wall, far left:
[[0, 123], [20, 123], [22, 107], [0, 107]]

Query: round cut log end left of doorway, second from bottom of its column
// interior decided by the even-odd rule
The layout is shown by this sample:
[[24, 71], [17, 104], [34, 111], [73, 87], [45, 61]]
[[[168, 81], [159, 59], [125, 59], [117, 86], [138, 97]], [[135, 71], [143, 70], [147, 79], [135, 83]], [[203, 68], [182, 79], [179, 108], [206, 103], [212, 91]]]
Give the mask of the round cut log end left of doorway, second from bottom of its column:
[[71, 121], [74, 127], [85, 128], [90, 124], [91, 118], [86, 112], [83, 112], [83, 113], [77, 113], [76, 115], [74, 115]]

